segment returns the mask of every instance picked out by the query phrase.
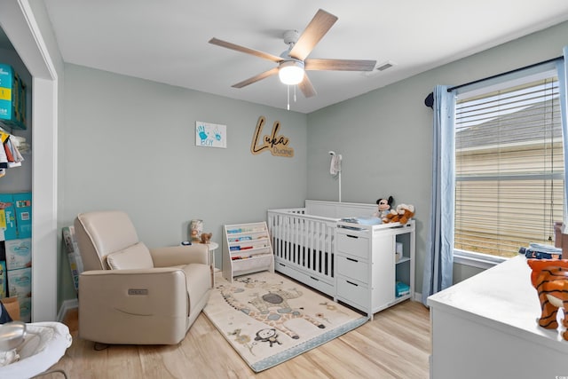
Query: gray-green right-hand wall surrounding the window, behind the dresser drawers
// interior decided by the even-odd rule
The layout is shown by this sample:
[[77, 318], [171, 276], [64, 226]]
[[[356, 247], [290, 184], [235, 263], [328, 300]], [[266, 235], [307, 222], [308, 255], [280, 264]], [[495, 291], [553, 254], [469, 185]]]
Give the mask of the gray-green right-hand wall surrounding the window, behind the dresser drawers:
[[[308, 198], [337, 199], [337, 182], [327, 173], [327, 151], [335, 150], [343, 154], [343, 201], [371, 202], [392, 195], [396, 203], [414, 204], [416, 290], [421, 292], [432, 154], [432, 111], [424, 99], [437, 84], [469, 83], [556, 58], [567, 44], [564, 22], [309, 114]], [[479, 271], [456, 266], [454, 281]]]

